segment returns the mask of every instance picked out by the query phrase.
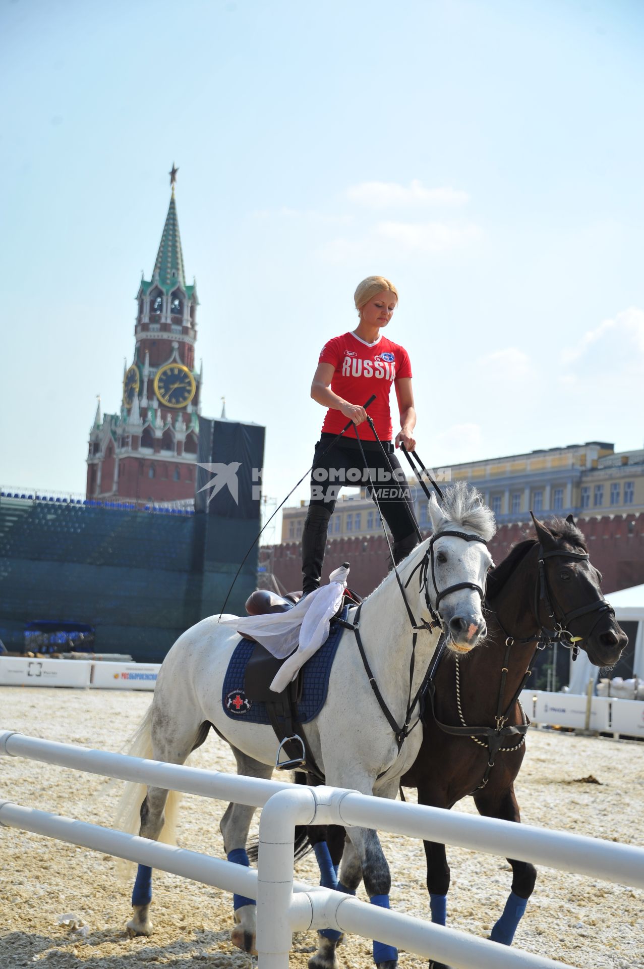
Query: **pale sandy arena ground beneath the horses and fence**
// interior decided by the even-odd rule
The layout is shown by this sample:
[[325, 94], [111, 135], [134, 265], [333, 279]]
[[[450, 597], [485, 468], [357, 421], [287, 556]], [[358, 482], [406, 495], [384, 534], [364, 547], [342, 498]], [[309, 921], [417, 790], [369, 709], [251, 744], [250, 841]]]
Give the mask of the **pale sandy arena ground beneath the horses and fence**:
[[[0, 728], [108, 751], [123, 750], [151, 702], [150, 693], [0, 688]], [[463, 741], [466, 742], [465, 740]], [[227, 746], [212, 733], [190, 761], [234, 770]], [[601, 782], [570, 783], [594, 774]], [[109, 826], [121, 785], [107, 778], [20, 758], [0, 759], [0, 799]], [[529, 824], [644, 845], [644, 747], [640, 743], [531, 732], [516, 785], [522, 818]], [[224, 804], [185, 796], [179, 843], [223, 857], [219, 820]], [[459, 810], [474, 811], [471, 800]], [[256, 821], [258, 816], [256, 815]], [[257, 832], [257, 824], [252, 829]], [[428, 919], [422, 846], [383, 835], [391, 866], [391, 907]], [[452, 887], [448, 923], [484, 937], [503, 911], [511, 872], [506, 860], [449, 848]], [[98, 852], [26, 831], [0, 828], [0, 969], [138, 969], [159, 963], [188, 969], [251, 967], [256, 960], [230, 945], [230, 894], [155, 872], [149, 939], [128, 937], [131, 884]], [[313, 856], [296, 877], [317, 884]], [[358, 897], [365, 898], [362, 888]], [[515, 945], [584, 969], [644, 967], [644, 891], [598, 879], [539, 869], [537, 887], [519, 924]], [[58, 922], [73, 915], [83, 936]], [[306, 969], [316, 933], [293, 939], [292, 969]], [[338, 949], [343, 967], [373, 965], [371, 944], [348, 938]], [[400, 953], [401, 969], [426, 969], [426, 961]]]

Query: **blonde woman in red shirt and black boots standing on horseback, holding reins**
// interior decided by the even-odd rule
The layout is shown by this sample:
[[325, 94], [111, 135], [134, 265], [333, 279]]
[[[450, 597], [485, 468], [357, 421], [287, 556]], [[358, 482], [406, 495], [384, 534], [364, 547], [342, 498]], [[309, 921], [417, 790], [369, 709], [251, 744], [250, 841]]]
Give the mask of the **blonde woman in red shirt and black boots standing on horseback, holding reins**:
[[[418, 539], [414, 504], [395, 448], [404, 444], [415, 450], [414, 393], [412, 364], [404, 347], [384, 335], [398, 304], [398, 292], [383, 276], [368, 276], [353, 296], [359, 322], [355, 329], [334, 336], [323, 347], [311, 385], [311, 396], [326, 416], [320, 441], [316, 445], [311, 472], [311, 501], [302, 532], [302, 593], [320, 586], [326, 547], [328, 521], [333, 514], [342, 485], [364, 485], [363, 461], [356, 438], [359, 437], [371, 469], [383, 518], [393, 536], [396, 564], [405, 558]], [[389, 408], [391, 386], [395, 387], [400, 414], [400, 430], [392, 443], [393, 426]], [[369, 416], [383, 442], [385, 458], [362, 404], [376, 399]], [[347, 421], [353, 425], [332, 447], [328, 447]], [[328, 449], [328, 450], [326, 450]], [[395, 480], [391, 480], [393, 469]], [[371, 492], [368, 492], [371, 496]]]

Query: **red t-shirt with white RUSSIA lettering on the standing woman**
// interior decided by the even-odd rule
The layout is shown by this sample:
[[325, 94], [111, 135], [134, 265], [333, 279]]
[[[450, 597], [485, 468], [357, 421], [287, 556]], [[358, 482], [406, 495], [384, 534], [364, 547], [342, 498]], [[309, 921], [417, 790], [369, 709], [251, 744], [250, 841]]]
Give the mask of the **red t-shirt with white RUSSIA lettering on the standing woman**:
[[[387, 340], [382, 333], [376, 343], [371, 344], [365, 343], [355, 333], [343, 333], [324, 344], [320, 362], [332, 363], [335, 367], [331, 390], [344, 400], [363, 406], [373, 393], [376, 394], [367, 414], [373, 418], [381, 441], [390, 441], [393, 436], [389, 410], [391, 385], [399, 377], [412, 376], [412, 364], [405, 348]], [[322, 432], [339, 434], [346, 423], [347, 418], [342, 411], [329, 408]], [[355, 437], [355, 430], [352, 424], [345, 437]], [[373, 440], [368, 422], [358, 424], [357, 432], [362, 440]]]

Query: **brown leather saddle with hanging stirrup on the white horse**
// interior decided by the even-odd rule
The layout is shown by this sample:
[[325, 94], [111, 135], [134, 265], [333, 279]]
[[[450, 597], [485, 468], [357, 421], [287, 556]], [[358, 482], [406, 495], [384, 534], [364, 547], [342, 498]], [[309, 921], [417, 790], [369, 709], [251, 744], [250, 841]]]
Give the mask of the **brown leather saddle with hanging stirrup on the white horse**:
[[[279, 596], [267, 589], [256, 589], [246, 600], [246, 611], [249, 615], [264, 613], [287, 612], [301, 599], [301, 592], [288, 592], [286, 596]], [[345, 590], [340, 610], [334, 619], [342, 615], [346, 606], [358, 605], [362, 600], [349, 589]], [[248, 639], [248, 637], [246, 637]], [[273, 728], [280, 746], [275, 759], [278, 770], [304, 770], [324, 783], [324, 775], [317, 766], [311, 748], [302, 731], [297, 703], [302, 696], [303, 669], [302, 668], [288, 686], [281, 693], [270, 689], [270, 684], [289, 657], [278, 659], [268, 650], [256, 642], [244, 672], [244, 693], [250, 701], [265, 703], [270, 725]], [[280, 760], [282, 753], [286, 760]]]

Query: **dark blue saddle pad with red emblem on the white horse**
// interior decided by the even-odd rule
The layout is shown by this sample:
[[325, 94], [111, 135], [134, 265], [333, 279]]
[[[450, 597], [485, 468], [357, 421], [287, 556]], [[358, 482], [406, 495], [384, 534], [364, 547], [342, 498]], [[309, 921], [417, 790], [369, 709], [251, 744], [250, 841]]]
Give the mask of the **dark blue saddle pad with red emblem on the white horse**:
[[[349, 607], [342, 610], [341, 618], [346, 621]], [[331, 620], [328, 639], [302, 667], [302, 696], [297, 703], [299, 722], [307, 724], [316, 717], [326, 700], [328, 678], [331, 666], [342, 636], [344, 627], [337, 620]], [[232, 720], [244, 720], [252, 724], [269, 724], [266, 704], [248, 700], [244, 693], [244, 673], [251, 653], [255, 649], [252, 640], [240, 640], [230, 657], [229, 668], [224, 677], [222, 705]], [[275, 694], [277, 697], [278, 695]]]

